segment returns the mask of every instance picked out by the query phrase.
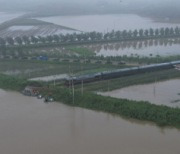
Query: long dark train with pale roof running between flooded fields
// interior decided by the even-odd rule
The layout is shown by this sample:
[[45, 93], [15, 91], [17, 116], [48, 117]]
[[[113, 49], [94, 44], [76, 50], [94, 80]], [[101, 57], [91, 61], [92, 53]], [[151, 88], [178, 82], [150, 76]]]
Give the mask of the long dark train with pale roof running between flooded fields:
[[82, 75], [82, 76], [77, 76], [77, 77], [69, 77], [65, 80], [65, 85], [68, 86], [72, 84], [89, 83], [89, 82], [119, 78], [123, 76], [139, 74], [139, 73], [158, 71], [162, 69], [171, 69], [171, 68], [174, 68], [175, 65], [178, 65], [178, 64], [180, 64], [180, 61], [173, 61], [173, 62], [160, 63], [160, 64], [151, 64], [151, 65], [145, 65], [145, 66], [117, 69], [113, 71], [104, 71], [100, 73]]

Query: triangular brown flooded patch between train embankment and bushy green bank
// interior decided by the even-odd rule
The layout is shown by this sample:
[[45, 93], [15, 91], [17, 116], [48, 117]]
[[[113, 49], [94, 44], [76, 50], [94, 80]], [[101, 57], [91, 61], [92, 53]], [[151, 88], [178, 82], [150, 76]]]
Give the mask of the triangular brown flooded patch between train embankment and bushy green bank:
[[149, 101], [157, 105], [180, 107], [180, 79], [135, 85], [101, 94], [116, 98]]

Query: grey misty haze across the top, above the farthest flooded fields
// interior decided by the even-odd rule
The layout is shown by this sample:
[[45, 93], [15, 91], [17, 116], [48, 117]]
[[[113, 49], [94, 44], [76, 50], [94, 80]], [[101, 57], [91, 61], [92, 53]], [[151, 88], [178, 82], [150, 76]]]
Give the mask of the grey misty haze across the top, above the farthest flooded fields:
[[33, 11], [80, 13], [118, 13], [121, 11], [158, 11], [168, 13], [180, 10], [180, 0], [0, 0], [0, 11]]

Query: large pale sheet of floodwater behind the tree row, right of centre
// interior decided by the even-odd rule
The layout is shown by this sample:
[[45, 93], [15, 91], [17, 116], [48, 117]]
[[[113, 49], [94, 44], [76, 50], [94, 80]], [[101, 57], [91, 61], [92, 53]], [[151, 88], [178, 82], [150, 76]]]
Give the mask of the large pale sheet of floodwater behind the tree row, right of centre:
[[175, 27], [180, 24], [154, 22], [150, 18], [135, 14], [108, 14], [108, 15], [80, 15], [80, 16], [52, 16], [37, 18], [84, 32], [108, 32], [112, 30], [135, 30], [161, 27]]

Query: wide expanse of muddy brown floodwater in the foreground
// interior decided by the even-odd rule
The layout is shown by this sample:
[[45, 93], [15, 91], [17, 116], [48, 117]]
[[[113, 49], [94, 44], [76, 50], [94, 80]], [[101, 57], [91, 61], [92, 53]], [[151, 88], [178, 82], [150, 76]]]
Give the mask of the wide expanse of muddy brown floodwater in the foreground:
[[180, 131], [0, 90], [1, 154], [179, 154]]

